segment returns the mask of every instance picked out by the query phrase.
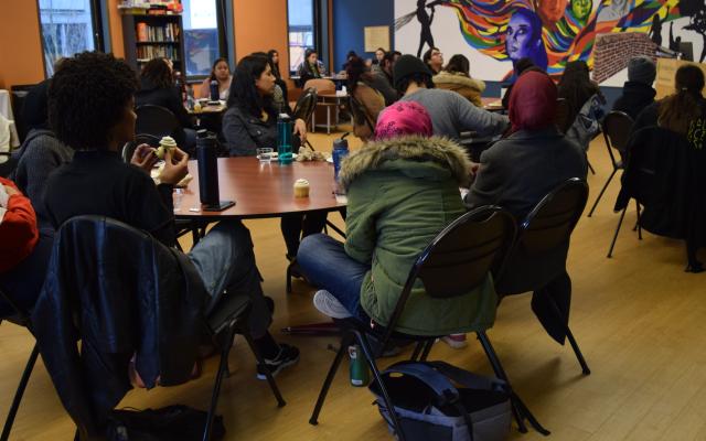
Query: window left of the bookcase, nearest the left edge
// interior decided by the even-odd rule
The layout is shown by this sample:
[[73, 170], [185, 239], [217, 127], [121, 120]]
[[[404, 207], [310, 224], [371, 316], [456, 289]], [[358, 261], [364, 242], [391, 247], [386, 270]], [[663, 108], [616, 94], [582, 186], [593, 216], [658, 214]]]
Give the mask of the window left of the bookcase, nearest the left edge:
[[44, 71], [54, 75], [58, 58], [103, 50], [100, 8], [95, 0], [40, 0]]

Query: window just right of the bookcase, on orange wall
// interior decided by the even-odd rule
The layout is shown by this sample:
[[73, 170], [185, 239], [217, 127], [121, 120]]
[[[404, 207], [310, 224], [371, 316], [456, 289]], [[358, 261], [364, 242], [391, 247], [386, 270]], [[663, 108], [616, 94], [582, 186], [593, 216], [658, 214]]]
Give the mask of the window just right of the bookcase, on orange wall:
[[211, 74], [211, 66], [226, 54], [225, 11], [222, 0], [182, 0], [184, 56], [188, 77]]

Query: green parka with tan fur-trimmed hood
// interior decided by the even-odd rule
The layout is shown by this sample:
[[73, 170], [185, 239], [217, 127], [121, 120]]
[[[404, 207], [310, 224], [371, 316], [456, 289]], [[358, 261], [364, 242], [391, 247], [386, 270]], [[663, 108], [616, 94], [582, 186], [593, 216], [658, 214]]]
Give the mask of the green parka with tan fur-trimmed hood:
[[[459, 186], [467, 185], [464, 151], [441, 138], [405, 137], [376, 141], [343, 161], [347, 190], [345, 251], [368, 263], [361, 305], [386, 325], [419, 252], [466, 209]], [[498, 298], [492, 278], [475, 291], [434, 299], [417, 281], [397, 331], [445, 335], [492, 326]]]

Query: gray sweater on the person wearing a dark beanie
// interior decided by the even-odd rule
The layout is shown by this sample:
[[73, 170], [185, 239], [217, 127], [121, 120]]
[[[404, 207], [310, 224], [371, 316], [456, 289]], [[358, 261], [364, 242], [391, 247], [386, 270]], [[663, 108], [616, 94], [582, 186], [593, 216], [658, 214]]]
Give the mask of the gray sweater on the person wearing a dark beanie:
[[419, 89], [405, 95], [400, 100], [422, 105], [431, 117], [434, 135], [457, 141], [462, 131], [492, 136], [503, 133], [510, 126], [507, 117], [478, 108], [450, 90]]

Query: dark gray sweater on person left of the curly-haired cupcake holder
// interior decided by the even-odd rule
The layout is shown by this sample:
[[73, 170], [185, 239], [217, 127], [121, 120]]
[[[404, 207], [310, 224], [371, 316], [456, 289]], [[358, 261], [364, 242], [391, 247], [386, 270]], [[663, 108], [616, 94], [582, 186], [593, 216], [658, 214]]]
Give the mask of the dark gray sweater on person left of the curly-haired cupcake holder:
[[71, 162], [74, 151], [56, 139], [51, 130], [34, 129], [13, 155], [19, 161], [12, 176], [14, 183], [32, 202], [39, 225], [51, 225], [44, 208], [46, 179], [55, 169]]

